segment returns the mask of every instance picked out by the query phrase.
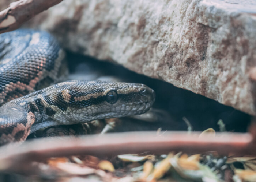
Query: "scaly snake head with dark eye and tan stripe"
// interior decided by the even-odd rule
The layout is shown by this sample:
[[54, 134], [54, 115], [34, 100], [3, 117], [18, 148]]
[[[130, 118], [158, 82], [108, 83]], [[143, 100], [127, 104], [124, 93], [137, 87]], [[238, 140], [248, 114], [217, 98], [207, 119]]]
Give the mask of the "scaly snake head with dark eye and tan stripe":
[[[154, 90], [144, 84], [98, 80], [71, 80], [66, 84], [69, 89], [62, 96], [70, 114], [65, 118], [76, 122], [143, 114], [155, 101]], [[61, 83], [64, 87], [60, 90], [65, 90], [66, 84]]]

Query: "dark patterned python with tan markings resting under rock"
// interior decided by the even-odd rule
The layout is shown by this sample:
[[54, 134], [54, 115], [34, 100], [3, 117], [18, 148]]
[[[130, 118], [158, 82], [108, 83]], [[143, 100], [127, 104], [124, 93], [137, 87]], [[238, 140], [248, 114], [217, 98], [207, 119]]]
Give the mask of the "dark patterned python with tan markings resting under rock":
[[155, 100], [141, 83], [69, 80], [65, 51], [45, 31], [0, 35], [0, 146], [50, 126], [140, 115]]

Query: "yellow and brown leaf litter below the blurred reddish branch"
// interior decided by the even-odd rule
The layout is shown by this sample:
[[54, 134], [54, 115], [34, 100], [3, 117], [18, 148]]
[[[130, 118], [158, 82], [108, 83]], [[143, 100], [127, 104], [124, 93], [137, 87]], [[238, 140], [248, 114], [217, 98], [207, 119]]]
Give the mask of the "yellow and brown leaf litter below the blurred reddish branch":
[[[191, 124], [184, 120], [192, 132]], [[221, 120], [218, 124], [226, 131]], [[215, 136], [215, 131], [209, 128], [199, 137], [206, 134]], [[125, 154], [112, 158], [81, 155], [49, 158], [42, 163], [54, 169], [51, 179], [58, 182], [87, 179], [95, 182], [256, 182], [256, 157], [227, 157], [216, 152]]]

